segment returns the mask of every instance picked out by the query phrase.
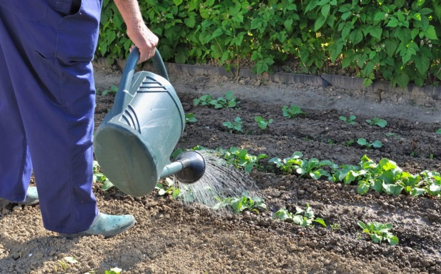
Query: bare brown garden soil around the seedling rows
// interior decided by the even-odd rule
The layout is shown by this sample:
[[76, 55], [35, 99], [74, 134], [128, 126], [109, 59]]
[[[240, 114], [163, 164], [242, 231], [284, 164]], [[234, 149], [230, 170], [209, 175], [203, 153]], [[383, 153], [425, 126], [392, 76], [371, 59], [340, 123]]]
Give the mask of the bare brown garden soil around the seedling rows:
[[[120, 72], [97, 70], [99, 93], [117, 85]], [[171, 73], [172, 84], [188, 113], [198, 121], [187, 124], [177, 145], [191, 148], [236, 146], [251, 154], [288, 157], [301, 151], [306, 158], [357, 164], [363, 154], [375, 161], [389, 158], [411, 173], [441, 170], [440, 104], [429, 98], [400, 94], [376, 96], [330, 88], [281, 85], [224, 76]], [[202, 94], [222, 96], [232, 90], [240, 109], [194, 107]], [[400, 100], [398, 100], [401, 98]], [[96, 125], [112, 107], [112, 95], [97, 96]], [[306, 114], [282, 116], [283, 105], [295, 103]], [[426, 105], [426, 106], [424, 106]], [[429, 106], [427, 106], [429, 105]], [[357, 116], [351, 126], [338, 118]], [[274, 119], [266, 130], [254, 116]], [[240, 116], [244, 132], [232, 134], [222, 122]], [[386, 128], [364, 121], [374, 116], [388, 121]], [[386, 136], [394, 133], [393, 136]], [[366, 150], [349, 140], [381, 140], [383, 147]], [[432, 156], [430, 156], [432, 155]], [[266, 165], [267, 160], [261, 160]], [[266, 171], [265, 171], [266, 170]], [[257, 184], [268, 210], [261, 214], [215, 212], [198, 204], [183, 205], [156, 192], [135, 198], [115, 188], [94, 185], [100, 210], [134, 214], [134, 228], [104, 239], [101, 236], [59, 239], [43, 228], [38, 206], [7, 204], [0, 208], [0, 273], [104, 273], [112, 267], [122, 273], [441, 273], [441, 202], [428, 197], [358, 195], [356, 186], [310, 180], [254, 170], [247, 175]], [[328, 228], [275, 221], [280, 207], [290, 211], [309, 203]], [[1, 206], [1, 205], [0, 205]], [[357, 222], [392, 222], [400, 243], [374, 244]], [[330, 224], [339, 224], [330, 229]], [[72, 256], [77, 263], [65, 263]], [[63, 263], [60, 263], [63, 262]]]

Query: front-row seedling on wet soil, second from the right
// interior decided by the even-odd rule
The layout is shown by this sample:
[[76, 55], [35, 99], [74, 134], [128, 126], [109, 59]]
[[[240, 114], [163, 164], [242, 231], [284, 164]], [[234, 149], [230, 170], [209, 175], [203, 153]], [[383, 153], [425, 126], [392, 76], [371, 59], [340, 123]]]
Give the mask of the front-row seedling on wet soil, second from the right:
[[273, 214], [273, 218], [280, 219], [282, 221], [292, 221], [296, 225], [301, 226], [311, 226], [312, 222], [319, 223], [326, 227], [326, 223], [322, 218], [314, 218], [314, 211], [309, 206], [309, 203], [306, 204], [305, 210], [300, 207], [295, 207], [295, 214], [290, 213], [285, 207], [277, 210], [276, 213]]

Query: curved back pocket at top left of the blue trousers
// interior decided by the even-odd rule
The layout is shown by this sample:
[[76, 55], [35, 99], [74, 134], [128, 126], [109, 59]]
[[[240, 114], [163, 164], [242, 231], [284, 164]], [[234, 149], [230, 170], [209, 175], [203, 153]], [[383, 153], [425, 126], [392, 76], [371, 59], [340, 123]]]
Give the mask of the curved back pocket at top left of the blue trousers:
[[32, 22], [40, 22], [48, 13], [45, 0], [2, 0], [0, 6], [15, 16]]

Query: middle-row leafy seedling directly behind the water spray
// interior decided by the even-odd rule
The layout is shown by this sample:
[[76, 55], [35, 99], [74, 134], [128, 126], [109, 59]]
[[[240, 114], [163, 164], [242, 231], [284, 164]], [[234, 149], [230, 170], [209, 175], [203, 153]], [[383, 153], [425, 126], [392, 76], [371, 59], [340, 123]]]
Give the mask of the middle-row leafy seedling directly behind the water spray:
[[246, 173], [250, 173], [254, 167], [258, 167], [260, 159], [268, 158], [266, 154], [254, 156], [248, 154], [246, 149], [239, 150], [237, 147], [231, 147], [229, 150], [218, 148], [217, 154], [224, 158], [228, 164], [234, 165], [236, 168], [243, 167]]

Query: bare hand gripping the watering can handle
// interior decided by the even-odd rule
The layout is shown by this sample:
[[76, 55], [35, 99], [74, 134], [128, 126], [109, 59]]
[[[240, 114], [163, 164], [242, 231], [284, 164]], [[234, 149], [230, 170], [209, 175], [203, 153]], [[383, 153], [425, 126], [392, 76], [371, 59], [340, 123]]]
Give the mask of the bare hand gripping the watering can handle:
[[127, 36], [139, 49], [140, 55], [138, 64], [155, 55], [155, 49], [159, 39], [144, 23], [138, 24], [134, 27], [127, 27]]

